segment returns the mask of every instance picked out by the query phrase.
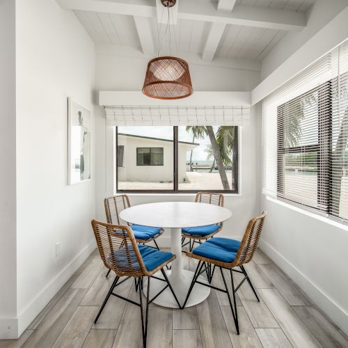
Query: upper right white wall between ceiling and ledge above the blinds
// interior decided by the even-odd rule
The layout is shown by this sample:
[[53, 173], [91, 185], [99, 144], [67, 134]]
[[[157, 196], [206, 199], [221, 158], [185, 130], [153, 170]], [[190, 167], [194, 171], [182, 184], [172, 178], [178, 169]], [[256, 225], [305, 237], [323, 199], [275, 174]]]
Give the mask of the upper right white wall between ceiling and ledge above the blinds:
[[[347, 0], [317, 0], [308, 11], [308, 22], [302, 31], [290, 31], [262, 61], [261, 79], [276, 70], [294, 52], [348, 6]], [[346, 19], [348, 20], [348, 19]], [[313, 47], [317, 49], [317, 47]]]

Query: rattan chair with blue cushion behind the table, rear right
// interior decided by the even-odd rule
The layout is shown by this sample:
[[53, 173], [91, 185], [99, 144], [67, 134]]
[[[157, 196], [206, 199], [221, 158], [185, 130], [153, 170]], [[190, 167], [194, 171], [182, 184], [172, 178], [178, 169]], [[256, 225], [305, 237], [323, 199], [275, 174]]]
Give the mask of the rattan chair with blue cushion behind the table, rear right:
[[[219, 205], [219, 207], [223, 207], [224, 197], [222, 193], [198, 192], [196, 194], [195, 202]], [[212, 238], [217, 232], [222, 230], [222, 227], [223, 223], [220, 222], [208, 226], [182, 228], [182, 247], [189, 244], [189, 251], [191, 252], [195, 243], [201, 244], [202, 240]], [[186, 238], [189, 239], [189, 242], [185, 243]]]

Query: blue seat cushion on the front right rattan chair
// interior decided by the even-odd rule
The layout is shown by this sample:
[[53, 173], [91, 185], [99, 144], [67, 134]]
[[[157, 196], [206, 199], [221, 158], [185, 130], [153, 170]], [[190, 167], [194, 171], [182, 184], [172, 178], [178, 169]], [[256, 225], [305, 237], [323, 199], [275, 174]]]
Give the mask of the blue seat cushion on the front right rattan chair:
[[214, 237], [194, 248], [192, 253], [203, 256], [203, 258], [232, 262], [235, 260], [240, 244], [239, 240]]

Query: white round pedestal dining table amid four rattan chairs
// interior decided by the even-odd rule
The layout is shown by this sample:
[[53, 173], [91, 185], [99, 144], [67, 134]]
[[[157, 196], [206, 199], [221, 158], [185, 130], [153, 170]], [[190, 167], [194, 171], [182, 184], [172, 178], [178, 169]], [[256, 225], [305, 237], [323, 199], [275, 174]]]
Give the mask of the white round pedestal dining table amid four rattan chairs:
[[[207, 226], [230, 219], [230, 210], [207, 203], [193, 202], [161, 202], [134, 205], [120, 212], [120, 218], [128, 223], [136, 223], [143, 226], [154, 226], [171, 229], [171, 252], [176, 255], [172, 262], [171, 270], [166, 270], [168, 279], [173, 286], [180, 304], [184, 303], [193, 278], [193, 271], [184, 269], [182, 264], [182, 235], [181, 229], [187, 227]], [[162, 278], [161, 272], [155, 274]], [[200, 282], [207, 283], [207, 280], [200, 276]], [[161, 280], [151, 279], [150, 299], [166, 286]], [[144, 294], [145, 289], [144, 286]], [[210, 288], [196, 283], [193, 287], [186, 307], [195, 306], [209, 296]], [[148, 296], [148, 294], [145, 294]], [[178, 308], [171, 290], [167, 287], [153, 301], [159, 306]]]

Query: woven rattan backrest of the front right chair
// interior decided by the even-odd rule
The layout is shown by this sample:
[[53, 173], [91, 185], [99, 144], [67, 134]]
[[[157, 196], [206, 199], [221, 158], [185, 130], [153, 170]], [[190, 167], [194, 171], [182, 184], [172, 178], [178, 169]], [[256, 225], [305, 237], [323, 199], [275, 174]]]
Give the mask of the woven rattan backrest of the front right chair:
[[248, 263], [253, 258], [255, 250], [258, 246], [266, 214], [267, 212], [262, 212], [260, 216], [256, 216], [248, 222], [248, 226], [246, 226], [244, 237], [234, 261], [235, 266]]

